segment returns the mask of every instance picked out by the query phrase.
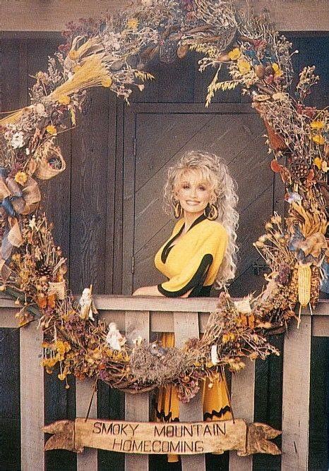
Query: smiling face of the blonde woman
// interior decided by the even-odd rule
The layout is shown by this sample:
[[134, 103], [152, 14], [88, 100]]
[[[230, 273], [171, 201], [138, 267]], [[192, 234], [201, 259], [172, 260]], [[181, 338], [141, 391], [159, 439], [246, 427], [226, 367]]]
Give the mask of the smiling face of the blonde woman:
[[176, 197], [185, 216], [186, 214], [201, 216], [210, 202], [209, 184], [204, 181], [200, 172], [188, 171], [179, 179]]

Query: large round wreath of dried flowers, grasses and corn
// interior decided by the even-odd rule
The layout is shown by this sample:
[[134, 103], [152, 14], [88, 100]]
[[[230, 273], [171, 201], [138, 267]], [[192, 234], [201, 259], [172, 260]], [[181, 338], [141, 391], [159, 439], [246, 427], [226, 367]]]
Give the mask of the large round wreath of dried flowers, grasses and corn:
[[[102, 20], [69, 23], [64, 37], [48, 71], [35, 77], [30, 106], [0, 121], [1, 290], [16, 298], [20, 326], [39, 319], [47, 372], [59, 365], [61, 380], [96, 377], [131, 392], [175, 384], [188, 401], [200, 379], [225, 366], [238, 371], [246, 357], [278, 354], [265, 334], [285, 329], [298, 303], [316, 305], [328, 257], [328, 111], [304, 99], [318, 77], [304, 68], [292, 94], [292, 44], [267, 18], [226, 1], [142, 0]], [[66, 259], [39, 209], [37, 179], [64, 171], [56, 136], [76, 125], [88, 88], [108, 87], [128, 102], [133, 88], [153, 78], [147, 65], [154, 56], [173, 63], [188, 51], [203, 54], [201, 72], [216, 69], [206, 106], [215, 92], [238, 85], [251, 97], [267, 130], [270, 166], [285, 184], [288, 216], [275, 214], [254, 243], [269, 267], [260, 295], [234, 302], [221, 293], [203, 338], [181, 349], [141, 338], [128, 345], [115, 324], [97, 322], [88, 289], [80, 302], [68, 292]], [[220, 81], [222, 68], [230, 80]]]

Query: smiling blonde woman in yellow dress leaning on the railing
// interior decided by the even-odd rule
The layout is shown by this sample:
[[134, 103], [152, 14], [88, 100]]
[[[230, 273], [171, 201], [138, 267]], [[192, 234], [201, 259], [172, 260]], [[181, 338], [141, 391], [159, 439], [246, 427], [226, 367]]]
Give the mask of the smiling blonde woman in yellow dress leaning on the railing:
[[[177, 224], [172, 236], [155, 255], [155, 267], [168, 281], [138, 288], [134, 295], [209, 296], [234, 278], [238, 213], [235, 184], [225, 161], [215, 154], [189, 152], [168, 171], [164, 209]], [[181, 217], [182, 216], [182, 217]], [[162, 345], [174, 346], [174, 334], [163, 334]], [[179, 420], [179, 400], [173, 386], [160, 390], [157, 418]], [[232, 417], [224, 377], [203, 387], [205, 420]], [[176, 456], [169, 460], [177, 460]]]

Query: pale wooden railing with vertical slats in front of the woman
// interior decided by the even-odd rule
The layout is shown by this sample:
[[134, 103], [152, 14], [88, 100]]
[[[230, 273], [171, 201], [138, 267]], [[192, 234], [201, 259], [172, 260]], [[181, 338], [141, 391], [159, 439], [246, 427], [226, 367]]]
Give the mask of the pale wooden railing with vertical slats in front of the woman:
[[[214, 310], [216, 298], [131, 298], [120, 295], [97, 295], [95, 304], [100, 318], [116, 322], [128, 338], [150, 338], [151, 332], [174, 332], [176, 345], [198, 336], [205, 329], [208, 313]], [[12, 300], [0, 299], [0, 327], [14, 328], [17, 308]], [[328, 336], [329, 302], [319, 302], [313, 316], [306, 312], [299, 329], [296, 323], [285, 336], [282, 398], [282, 465], [281, 469], [307, 470], [309, 460], [309, 399], [311, 336]], [[42, 333], [32, 324], [20, 329], [20, 429], [22, 470], [44, 470], [44, 371], [40, 367]], [[31, 374], [33, 372], [33, 374]], [[255, 364], [232, 378], [232, 404], [235, 417], [253, 421]], [[76, 382], [76, 416], [84, 417], [92, 391], [92, 381]], [[249, 400], [246, 400], [249, 398]], [[33, 405], [31, 407], [31, 405]], [[149, 420], [148, 393], [126, 394], [126, 420]], [[90, 417], [97, 417], [94, 400]], [[201, 400], [180, 405], [184, 421], [202, 420]], [[182, 456], [184, 471], [205, 470], [204, 455]], [[253, 458], [230, 453], [230, 471], [251, 471]], [[97, 470], [97, 450], [86, 449], [77, 458], [78, 471]], [[148, 455], [126, 455], [126, 470], [148, 470]]]

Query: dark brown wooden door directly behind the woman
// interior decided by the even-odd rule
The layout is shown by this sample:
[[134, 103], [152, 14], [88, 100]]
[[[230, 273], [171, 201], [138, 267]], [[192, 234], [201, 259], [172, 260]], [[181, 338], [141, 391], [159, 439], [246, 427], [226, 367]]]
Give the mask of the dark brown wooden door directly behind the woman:
[[174, 221], [162, 211], [167, 169], [191, 149], [220, 154], [238, 183], [239, 262], [230, 292], [246, 295], [263, 285], [252, 243], [273, 212], [274, 181], [261, 119], [250, 104], [134, 104], [125, 114], [124, 293], [155, 285], [163, 276], [155, 252]]

